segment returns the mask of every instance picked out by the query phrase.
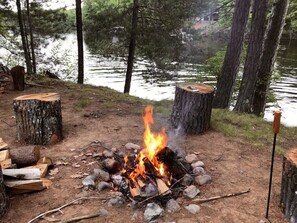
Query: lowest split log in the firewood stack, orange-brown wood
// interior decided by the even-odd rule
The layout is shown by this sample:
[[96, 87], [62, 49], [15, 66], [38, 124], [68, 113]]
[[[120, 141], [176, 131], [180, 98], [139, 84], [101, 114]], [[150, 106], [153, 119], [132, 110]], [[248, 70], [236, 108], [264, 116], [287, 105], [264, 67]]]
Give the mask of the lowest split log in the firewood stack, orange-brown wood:
[[44, 189], [42, 180], [4, 180], [4, 185], [13, 194], [21, 194]]

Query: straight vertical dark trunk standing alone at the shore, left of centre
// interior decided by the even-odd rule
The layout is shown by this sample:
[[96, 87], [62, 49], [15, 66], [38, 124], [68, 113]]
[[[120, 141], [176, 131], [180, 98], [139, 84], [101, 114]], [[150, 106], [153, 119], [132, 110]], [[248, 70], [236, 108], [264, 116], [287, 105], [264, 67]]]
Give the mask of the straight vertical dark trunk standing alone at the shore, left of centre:
[[84, 47], [83, 47], [83, 29], [81, 0], [76, 0], [76, 29], [77, 29], [77, 47], [78, 47], [78, 78], [77, 83], [84, 83]]

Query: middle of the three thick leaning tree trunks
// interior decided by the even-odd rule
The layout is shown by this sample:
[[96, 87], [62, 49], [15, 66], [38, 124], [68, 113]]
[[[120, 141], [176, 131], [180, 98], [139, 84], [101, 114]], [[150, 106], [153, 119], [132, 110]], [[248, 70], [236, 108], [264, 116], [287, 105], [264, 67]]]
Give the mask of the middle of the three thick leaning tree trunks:
[[254, 1], [249, 44], [239, 94], [234, 110], [252, 112], [254, 92], [263, 52], [268, 0]]

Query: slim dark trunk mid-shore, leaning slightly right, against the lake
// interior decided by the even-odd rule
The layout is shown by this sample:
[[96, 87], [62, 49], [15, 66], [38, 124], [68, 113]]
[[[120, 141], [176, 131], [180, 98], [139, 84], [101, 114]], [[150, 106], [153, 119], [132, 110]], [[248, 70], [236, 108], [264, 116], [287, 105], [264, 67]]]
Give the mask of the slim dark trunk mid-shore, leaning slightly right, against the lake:
[[127, 62], [126, 80], [125, 80], [125, 87], [124, 87], [124, 93], [128, 93], [128, 94], [130, 92], [132, 70], [133, 70], [133, 63], [134, 63], [134, 54], [135, 54], [135, 47], [136, 47], [138, 8], [139, 8], [138, 0], [133, 0], [131, 36], [130, 36], [130, 44], [129, 44], [129, 55], [128, 55], [128, 62]]

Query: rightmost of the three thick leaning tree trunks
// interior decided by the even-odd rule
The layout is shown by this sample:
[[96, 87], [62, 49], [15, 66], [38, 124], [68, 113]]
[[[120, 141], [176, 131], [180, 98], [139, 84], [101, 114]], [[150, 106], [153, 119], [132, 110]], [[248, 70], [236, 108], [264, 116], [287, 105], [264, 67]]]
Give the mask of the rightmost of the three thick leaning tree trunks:
[[279, 41], [285, 24], [289, 0], [275, 0], [272, 15], [264, 42], [263, 56], [258, 73], [258, 80], [253, 101], [253, 113], [264, 113], [266, 93], [269, 88], [272, 70], [277, 55]]

